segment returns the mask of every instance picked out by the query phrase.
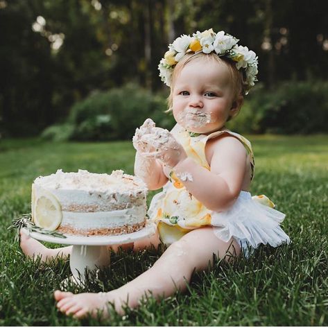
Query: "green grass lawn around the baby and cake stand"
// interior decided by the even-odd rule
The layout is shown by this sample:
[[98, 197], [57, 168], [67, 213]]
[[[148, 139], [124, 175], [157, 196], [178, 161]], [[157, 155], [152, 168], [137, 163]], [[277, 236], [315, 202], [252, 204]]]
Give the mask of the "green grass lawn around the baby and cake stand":
[[[37, 139], [0, 144], [0, 325], [328, 325], [328, 137], [250, 136], [256, 171], [252, 193], [264, 193], [287, 214], [293, 241], [260, 247], [250, 259], [216, 261], [193, 276], [187, 293], [144, 300], [123, 318], [74, 320], [58, 313], [53, 291], [69, 275], [69, 263], [26, 260], [7, 230], [30, 211], [31, 183], [57, 169], [110, 173], [133, 171], [130, 142], [51, 144]], [[148, 201], [153, 193], [150, 193]], [[52, 246], [54, 247], [54, 246]], [[151, 266], [160, 251], [112, 254], [111, 268], [92, 276], [85, 289], [108, 291]]]

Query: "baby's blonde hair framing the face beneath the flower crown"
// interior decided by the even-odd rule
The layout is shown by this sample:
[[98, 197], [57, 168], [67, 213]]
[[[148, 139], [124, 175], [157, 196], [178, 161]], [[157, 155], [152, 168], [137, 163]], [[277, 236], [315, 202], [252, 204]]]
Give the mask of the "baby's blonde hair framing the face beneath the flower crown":
[[172, 74], [172, 83], [170, 87], [170, 94], [168, 98], [168, 110], [166, 112], [171, 112], [172, 105], [173, 105], [173, 89], [175, 85], [175, 78], [181, 73], [182, 69], [193, 60], [207, 60], [207, 61], [214, 61], [218, 64], [224, 64], [230, 72], [230, 78], [232, 80], [232, 89], [233, 89], [233, 101], [235, 101], [239, 96], [245, 96], [245, 77], [243, 76], [243, 71], [239, 71], [236, 68], [236, 64], [231, 60], [219, 57], [216, 53], [187, 53], [184, 55], [182, 60], [176, 64], [173, 69]]

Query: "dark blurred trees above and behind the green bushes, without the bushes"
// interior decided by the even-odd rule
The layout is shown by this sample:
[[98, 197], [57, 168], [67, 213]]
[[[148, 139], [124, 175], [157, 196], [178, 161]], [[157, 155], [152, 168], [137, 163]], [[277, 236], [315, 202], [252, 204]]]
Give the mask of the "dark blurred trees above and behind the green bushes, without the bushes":
[[[297, 0], [238, 1], [238, 6], [227, 0], [2, 0], [0, 133], [38, 135], [95, 89], [134, 82], [162, 90], [157, 65], [168, 44], [207, 28], [235, 35], [255, 51], [266, 86], [291, 78], [325, 79], [326, 6], [326, 0], [316, 6]], [[35, 29], [37, 17], [45, 24]], [[91, 119], [78, 135], [107, 138], [110, 123], [100, 121]], [[94, 128], [101, 131], [93, 135]]]

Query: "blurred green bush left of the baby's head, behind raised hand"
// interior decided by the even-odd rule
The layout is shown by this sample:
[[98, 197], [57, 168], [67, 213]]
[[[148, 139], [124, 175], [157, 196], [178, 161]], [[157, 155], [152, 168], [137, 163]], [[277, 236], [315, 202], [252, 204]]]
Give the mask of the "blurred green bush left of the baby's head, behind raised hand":
[[165, 110], [164, 96], [128, 84], [108, 92], [93, 92], [71, 108], [67, 123], [47, 128], [42, 137], [53, 141], [132, 139], [147, 117], [162, 128], [172, 128], [173, 116]]

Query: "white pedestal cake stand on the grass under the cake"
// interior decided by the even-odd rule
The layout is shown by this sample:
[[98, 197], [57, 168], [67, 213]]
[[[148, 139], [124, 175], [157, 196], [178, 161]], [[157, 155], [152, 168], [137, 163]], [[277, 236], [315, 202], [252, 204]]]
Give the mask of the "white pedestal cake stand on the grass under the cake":
[[155, 234], [156, 225], [147, 221], [143, 229], [130, 234], [120, 234], [117, 236], [65, 235], [67, 238], [40, 234], [39, 232], [29, 232], [26, 228], [24, 230], [26, 234], [39, 241], [73, 245], [69, 259], [69, 266], [74, 278], [71, 281], [76, 282], [76, 284], [83, 284], [85, 281], [85, 269], [96, 270], [110, 265], [109, 245], [122, 245], [152, 236]]

